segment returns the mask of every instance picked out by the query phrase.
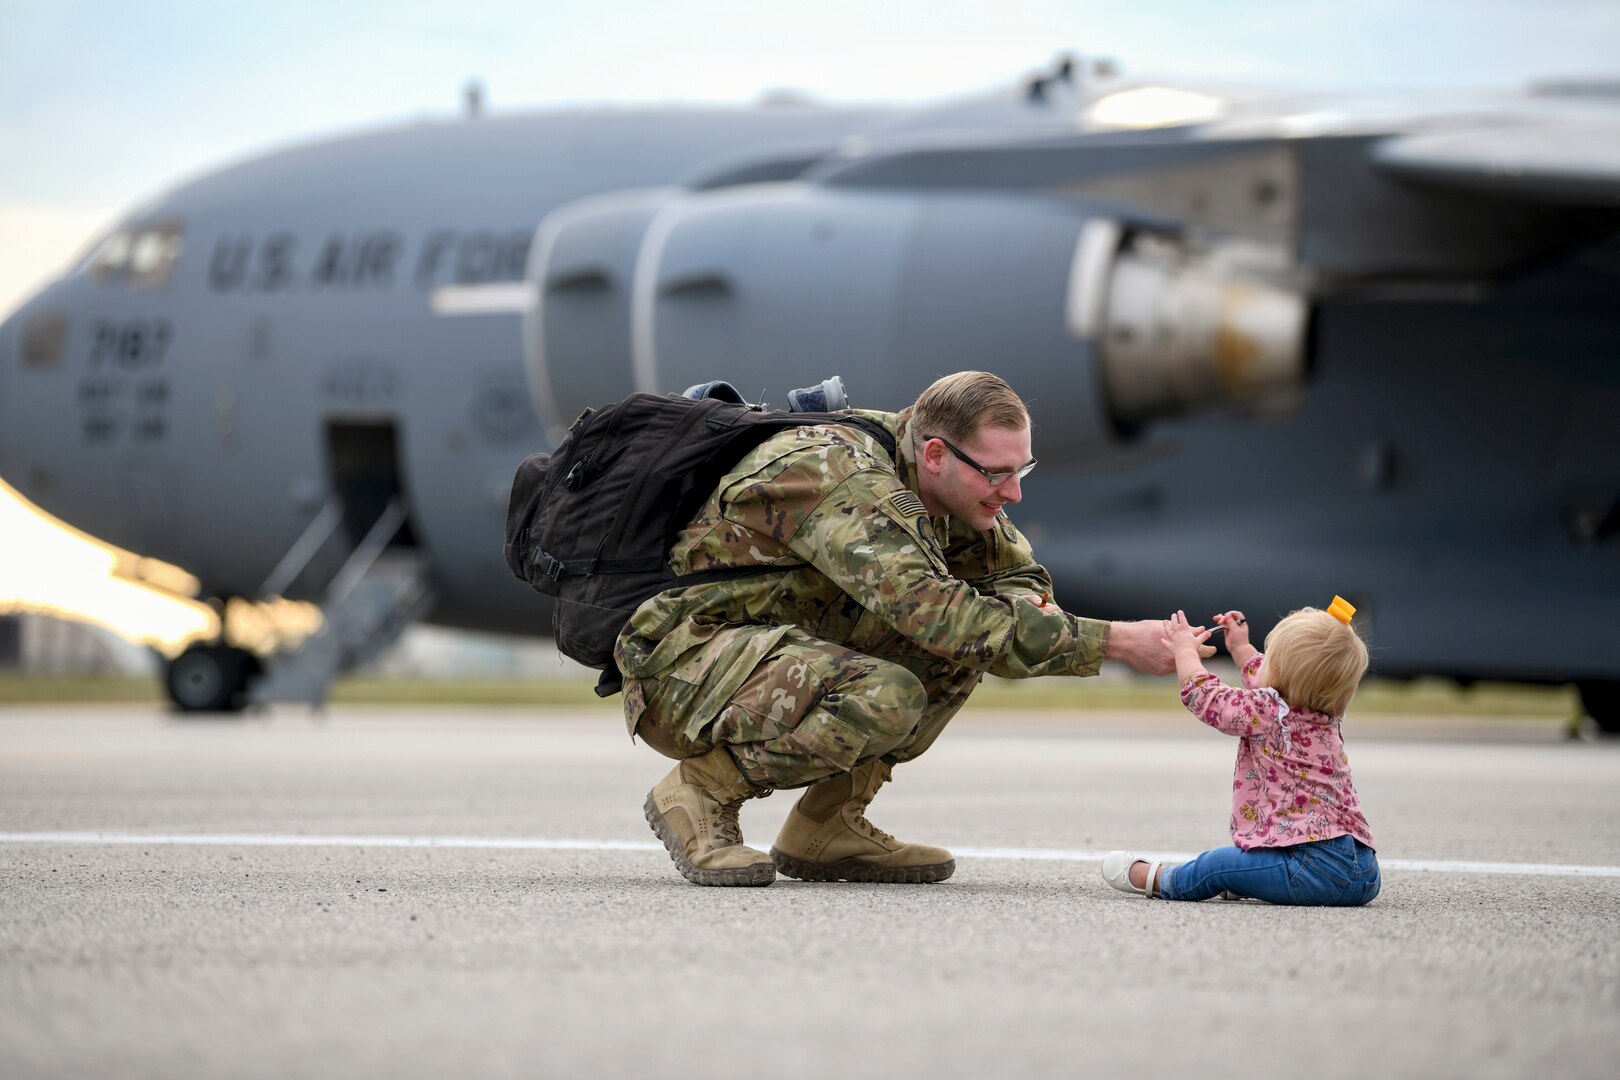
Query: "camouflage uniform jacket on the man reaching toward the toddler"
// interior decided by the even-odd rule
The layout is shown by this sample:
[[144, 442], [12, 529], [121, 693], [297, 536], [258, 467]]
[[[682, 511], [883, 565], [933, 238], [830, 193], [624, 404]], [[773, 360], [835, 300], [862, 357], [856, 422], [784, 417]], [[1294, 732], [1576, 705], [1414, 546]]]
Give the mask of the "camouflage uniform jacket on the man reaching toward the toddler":
[[[1051, 578], [1006, 513], [983, 533], [930, 518], [917, 495], [904, 415], [862, 415], [896, 434], [897, 461], [859, 427], [794, 427], [766, 439], [721, 479], [676, 539], [674, 572], [782, 568], [669, 589], [643, 602], [619, 636], [627, 678], [703, 664], [701, 646], [739, 625], [797, 625], [872, 654], [893, 653], [897, 635], [901, 644], [1006, 678], [1097, 674], [1108, 623], [1056, 604], [1014, 602], [1050, 593]], [[706, 680], [701, 711], [718, 712], [779, 638], [750, 635], [748, 656], [727, 656], [727, 674]], [[632, 732], [635, 698], [625, 696]]]

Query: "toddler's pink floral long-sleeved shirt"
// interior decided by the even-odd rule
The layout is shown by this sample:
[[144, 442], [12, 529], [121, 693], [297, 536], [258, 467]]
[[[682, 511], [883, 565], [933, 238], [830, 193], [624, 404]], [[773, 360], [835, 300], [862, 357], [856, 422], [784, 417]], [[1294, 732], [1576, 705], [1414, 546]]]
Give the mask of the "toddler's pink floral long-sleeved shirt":
[[1181, 683], [1181, 703], [1192, 716], [1238, 737], [1233, 844], [1247, 852], [1349, 834], [1372, 847], [1372, 831], [1349, 779], [1340, 721], [1291, 709], [1275, 690], [1256, 687], [1260, 659], [1257, 654], [1244, 665], [1243, 690], [1209, 672]]

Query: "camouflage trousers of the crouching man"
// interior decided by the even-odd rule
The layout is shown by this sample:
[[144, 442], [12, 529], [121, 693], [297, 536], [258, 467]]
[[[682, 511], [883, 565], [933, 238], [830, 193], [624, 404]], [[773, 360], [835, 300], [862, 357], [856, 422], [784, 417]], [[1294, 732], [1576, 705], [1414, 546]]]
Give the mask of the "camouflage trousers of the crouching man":
[[[940, 737], [978, 685], [980, 674], [922, 653], [904, 638], [883, 656], [791, 628], [697, 730], [679, 680], [642, 678], [635, 733], [669, 758], [729, 746], [760, 787], [804, 787], [873, 758], [910, 761]], [[724, 664], [724, 654], [711, 657]]]

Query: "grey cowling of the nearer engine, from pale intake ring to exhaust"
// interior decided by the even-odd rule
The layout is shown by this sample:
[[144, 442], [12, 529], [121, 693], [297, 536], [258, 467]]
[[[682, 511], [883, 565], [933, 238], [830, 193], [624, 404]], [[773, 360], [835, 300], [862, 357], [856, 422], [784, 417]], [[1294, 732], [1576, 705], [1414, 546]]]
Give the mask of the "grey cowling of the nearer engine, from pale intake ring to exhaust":
[[804, 183], [671, 204], [637, 266], [637, 389], [842, 374], [857, 405], [902, 408], [988, 369], [1035, 398], [1043, 450], [1081, 450], [1111, 439], [1092, 345], [1064, 327], [1082, 225], [1063, 201]]

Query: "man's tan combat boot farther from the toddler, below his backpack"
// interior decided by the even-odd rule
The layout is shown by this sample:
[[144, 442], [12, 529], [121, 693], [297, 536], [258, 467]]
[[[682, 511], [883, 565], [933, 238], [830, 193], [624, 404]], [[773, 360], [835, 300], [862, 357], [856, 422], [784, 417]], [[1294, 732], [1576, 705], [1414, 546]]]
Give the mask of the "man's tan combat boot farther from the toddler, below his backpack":
[[646, 793], [646, 824], [669, 848], [680, 876], [695, 886], [768, 886], [776, 866], [765, 852], [742, 845], [737, 811], [770, 795], [737, 771], [724, 746], [687, 758]]

